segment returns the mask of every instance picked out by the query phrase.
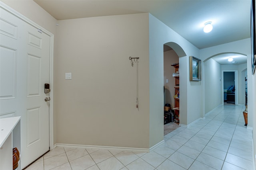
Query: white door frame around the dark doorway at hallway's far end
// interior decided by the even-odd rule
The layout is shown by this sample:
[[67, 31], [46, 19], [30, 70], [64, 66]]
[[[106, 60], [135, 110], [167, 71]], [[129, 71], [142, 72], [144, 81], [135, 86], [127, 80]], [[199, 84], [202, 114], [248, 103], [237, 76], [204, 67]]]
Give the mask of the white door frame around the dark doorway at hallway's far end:
[[221, 81], [221, 104], [224, 105], [224, 72], [235, 73], [235, 105], [238, 105], [238, 70], [222, 70], [222, 81]]

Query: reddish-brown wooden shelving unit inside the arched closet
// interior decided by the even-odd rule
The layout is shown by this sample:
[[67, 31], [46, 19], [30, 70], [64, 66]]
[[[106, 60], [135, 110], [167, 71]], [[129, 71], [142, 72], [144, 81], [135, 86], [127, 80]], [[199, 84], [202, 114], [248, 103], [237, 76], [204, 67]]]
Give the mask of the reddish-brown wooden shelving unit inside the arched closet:
[[176, 123], [180, 122], [180, 73], [179, 73], [179, 63], [172, 64], [174, 67], [174, 73], [172, 76], [175, 79], [175, 86], [174, 86], [174, 121]]

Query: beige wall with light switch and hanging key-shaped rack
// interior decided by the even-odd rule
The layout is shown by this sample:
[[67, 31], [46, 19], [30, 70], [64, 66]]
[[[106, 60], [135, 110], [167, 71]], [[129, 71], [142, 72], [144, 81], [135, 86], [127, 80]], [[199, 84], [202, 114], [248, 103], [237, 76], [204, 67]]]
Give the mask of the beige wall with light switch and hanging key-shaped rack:
[[57, 143], [149, 148], [148, 14], [58, 24]]

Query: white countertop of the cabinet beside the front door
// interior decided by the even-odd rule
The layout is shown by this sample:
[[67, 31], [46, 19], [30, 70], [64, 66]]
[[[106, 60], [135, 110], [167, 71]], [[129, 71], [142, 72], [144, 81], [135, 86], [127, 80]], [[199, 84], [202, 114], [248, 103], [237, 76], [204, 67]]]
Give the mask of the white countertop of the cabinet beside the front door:
[[2, 147], [19, 120], [20, 116], [0, 119], [0, 147]]

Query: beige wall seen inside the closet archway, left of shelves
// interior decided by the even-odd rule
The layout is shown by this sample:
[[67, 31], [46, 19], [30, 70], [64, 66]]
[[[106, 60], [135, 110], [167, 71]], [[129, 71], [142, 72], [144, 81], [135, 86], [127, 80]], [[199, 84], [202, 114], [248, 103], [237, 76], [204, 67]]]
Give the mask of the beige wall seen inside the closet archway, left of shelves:
[[[171, 107], [174, 107], [174, 85], [175, 85], [175, 78], [172, 76], [174, 73], [174, 67], [171, 66], [173, 63], [179, 63], [179, 57], [175, 53], [174, 50], [169, 50], [164, 52], [164, 104], [168, 103], [171, 104]], [[166, 82], [168, 79], [168, 83]]]

